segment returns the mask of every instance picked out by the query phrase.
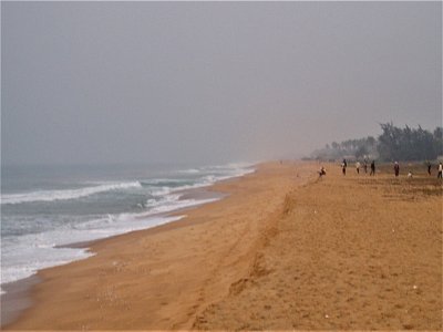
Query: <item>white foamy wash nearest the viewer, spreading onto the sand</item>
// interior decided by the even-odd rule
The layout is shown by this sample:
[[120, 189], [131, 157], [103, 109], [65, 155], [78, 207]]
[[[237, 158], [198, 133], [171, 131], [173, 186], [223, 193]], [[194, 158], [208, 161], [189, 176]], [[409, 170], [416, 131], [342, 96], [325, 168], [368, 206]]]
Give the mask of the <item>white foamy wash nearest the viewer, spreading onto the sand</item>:
[[75, 227], [66, 226], [42, 234], [3, 239], [0, 283], [24, 279], [33, 276], [38, 270], [92, 256], [87, 249], [60, 248], [60, 246], [146, 229], [179, 220], [183, 216], [141, 219], [140, 215], [136, 214], [122, 214], [119, 216], [105, 216], [75, 225]]

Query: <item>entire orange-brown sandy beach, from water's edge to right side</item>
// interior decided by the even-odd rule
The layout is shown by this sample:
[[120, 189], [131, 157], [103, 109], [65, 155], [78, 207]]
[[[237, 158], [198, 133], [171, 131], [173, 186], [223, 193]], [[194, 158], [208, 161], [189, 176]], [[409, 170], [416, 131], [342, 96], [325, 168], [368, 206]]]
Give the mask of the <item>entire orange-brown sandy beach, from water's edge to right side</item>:
[[442, 330], [442, 185], [268, 163], [223, 200], [39, 272], [7, 329]]

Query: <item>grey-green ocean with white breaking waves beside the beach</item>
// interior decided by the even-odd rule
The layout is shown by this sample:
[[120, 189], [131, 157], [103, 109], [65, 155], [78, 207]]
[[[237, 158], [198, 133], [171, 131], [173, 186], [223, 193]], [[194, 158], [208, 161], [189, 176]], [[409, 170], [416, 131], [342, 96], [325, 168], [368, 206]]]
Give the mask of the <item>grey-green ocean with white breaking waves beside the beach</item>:
[[188, 190], [251, 172], [248, 164], [2, 166], [0, 286], [93, 255], [71, 243], [178, 220], [167, 214], [219, 199]]

